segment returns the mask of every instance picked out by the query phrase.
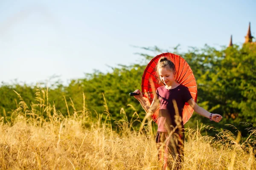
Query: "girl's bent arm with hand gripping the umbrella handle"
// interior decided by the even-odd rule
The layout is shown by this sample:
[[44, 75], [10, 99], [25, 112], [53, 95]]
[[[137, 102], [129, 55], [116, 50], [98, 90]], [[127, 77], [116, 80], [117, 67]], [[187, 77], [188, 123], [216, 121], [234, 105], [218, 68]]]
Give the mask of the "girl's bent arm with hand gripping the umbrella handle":
[[139, 89], [134, 91], [134, 93], [139, 94], [138, 96], [134, 96], [141, 104], [143, 109], [145, 110], [146, 113], [154, 113], [157, 110], [157, 107], [159, 106], [159, 99], [157, 98], [157, 95], [154, 96], [154, 99], [150, 105], [149, 100], [145, 100], [142, 96], [142, 93]]

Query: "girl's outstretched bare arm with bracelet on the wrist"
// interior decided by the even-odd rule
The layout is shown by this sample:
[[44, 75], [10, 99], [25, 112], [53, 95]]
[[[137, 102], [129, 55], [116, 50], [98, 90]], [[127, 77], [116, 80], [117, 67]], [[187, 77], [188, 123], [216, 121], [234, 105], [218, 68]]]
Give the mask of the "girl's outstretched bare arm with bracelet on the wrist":
[[213, 114], [213, 113], [210, 113], [210, 112], [206, 111], [204, 108], [201, 108], [200, 106], [198, 106], [192, 98], [189, 99], [188, 103], [194, 109], [194, 111], [196, 113], [200, 114], [201, 116], [209, 118], [210, 114], [212, 114], [212, 120], [214, 122], [220, 122], [221, 121], [222, 116], [220, 114]]

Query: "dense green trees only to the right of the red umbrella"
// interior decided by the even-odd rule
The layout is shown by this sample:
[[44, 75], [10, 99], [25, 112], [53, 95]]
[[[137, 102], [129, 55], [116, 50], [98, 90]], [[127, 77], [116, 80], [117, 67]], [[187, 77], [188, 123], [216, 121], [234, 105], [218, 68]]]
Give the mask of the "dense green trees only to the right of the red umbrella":
[[[225, 124], [241, 127], [240, 122], [256, 125], [253, 116], [256, 113], [255, 52], [255, 45], [245, 44], [221, 51], [206, 46], [199, 52], [193, 49], [183, 55], [197, 79], [198, 105], [224, 116], [221, 123], [214, 123], [215, 127], [223, 128]], [[193, 115], [188, 124], [196, 119], [209, 122]]]

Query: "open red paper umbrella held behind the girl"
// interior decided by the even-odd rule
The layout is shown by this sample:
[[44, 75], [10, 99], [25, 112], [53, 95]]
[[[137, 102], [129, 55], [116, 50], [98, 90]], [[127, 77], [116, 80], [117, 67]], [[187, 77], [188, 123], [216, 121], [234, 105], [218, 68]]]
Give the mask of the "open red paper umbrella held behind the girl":
[[[194, 101], [196, 102], [197, 101], [197, 85], [195, 82], [194, 74], [191, 68], [189, 67], [188, 63], [185, 61], [185, 59], [172, 53], [163, 53], [163, 54], [157, 55], [156, 57], [151, 59], [151, 61], [148, 63], [147, 67], [145, 68], [145, 71], [142, 77], [142, 83], [141, 83], [141, 89], [144, 94], [144, 97], [147, 97], [150, 103], [152, 103], [156, 89], [164, 85], [163, 83], [158, 84], [157, 82], [158, 74], [156, 73], [156, 65], [158, 60], [161, 57], [166, 57], [175, 64], [175, 69], [177, 71], [175, 80], [179, 84], [189, 88], [190, 94], [194, 99]], [[158, 120], [158, 111], [159, 111], [159, 108], [151, 116], [151, 118], [156, 123]], [[194, 111], [193, 108], [188, 103], [185, 103], [183, 113], [182, 113], [182, 119], [184, 124], [188, 122], [189, 118], [192, 116], [193, 111]]]

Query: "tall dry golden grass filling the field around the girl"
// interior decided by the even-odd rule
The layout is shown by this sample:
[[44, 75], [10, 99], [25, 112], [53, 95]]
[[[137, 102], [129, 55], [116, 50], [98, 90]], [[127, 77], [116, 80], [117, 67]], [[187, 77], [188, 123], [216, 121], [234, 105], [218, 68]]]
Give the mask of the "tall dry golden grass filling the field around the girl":
[[[38, 90], [36, 95], [37, 103], [31, 109], [19, 96], [20, 103], [11, 120], [6, 122], [5, 112], [0, 116], [0, 169], [161, 169], [151, 122], [142, 125], [141, 131], [132, 127], [135, 121], [140, 122], [136, 111], [133, 120], [116, 120], [111, 125], [106, 102], [105, 113], [92, 117], [84, 97], [83, 110], [76, 111], [72, 104], [74, 112], [70, 113], [67, 107], [68, 116], [63, 116], [56, 111], [54, 102], [48, 101], [47, 89]], [[121, 113], [126, 116], [123, 109]], [[185, 130], [184, 169], [256, 169], [255, 150], [251, 147], [255, 144], [254, 128], [248, 129], [250, 137], [245, 141], [228, 130], [215, 137], [201, 136], [203, 128], [213, 127]]]

